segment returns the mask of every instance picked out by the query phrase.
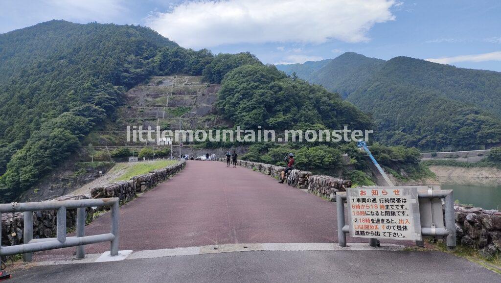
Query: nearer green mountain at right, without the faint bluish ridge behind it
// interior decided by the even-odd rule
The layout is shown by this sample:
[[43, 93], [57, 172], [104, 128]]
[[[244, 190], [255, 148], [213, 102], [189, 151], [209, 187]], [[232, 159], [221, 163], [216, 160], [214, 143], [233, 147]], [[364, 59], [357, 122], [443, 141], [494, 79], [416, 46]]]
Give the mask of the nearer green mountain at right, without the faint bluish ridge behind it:
[[396, 57], [347, 99], [372, 114], [383, 143], [475, 150], [501, 141], [499, 105], [491, 103], [501, 98], [498, 85], [501, 73]]

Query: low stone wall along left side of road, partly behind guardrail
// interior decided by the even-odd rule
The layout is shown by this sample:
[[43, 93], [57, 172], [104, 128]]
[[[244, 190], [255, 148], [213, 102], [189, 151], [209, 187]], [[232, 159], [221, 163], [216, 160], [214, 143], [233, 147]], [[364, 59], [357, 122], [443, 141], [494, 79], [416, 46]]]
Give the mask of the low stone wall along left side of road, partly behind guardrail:
[[[159, 183], [170, 178], [186, 166], [186, 161], [166, 168], [151, 171], [148, 174], [132, 177], [129, 181], [113, 183], [104, 187], [91, 189], [90, 195], [66, 195], [51, 200], [78, 200], [90, 198], [118, 197], [121, 201], [133, 199], [137, 193], [147, 191]], [[100, 208], [97, 208], [100, 209]], [[87, 221], [93, 219], [94, 209], [87, 208]], [[33, 217], [33, 238], [50, 238], [56, 234], [56, 211], [35, 211]], [[66, 225], [75, 227], [77, 223], [77, 210], [68, 209], [66, 212]], [[17, 245], [23, 243], [24, 217], [22, 212], [2, 214], [2, 245]]]

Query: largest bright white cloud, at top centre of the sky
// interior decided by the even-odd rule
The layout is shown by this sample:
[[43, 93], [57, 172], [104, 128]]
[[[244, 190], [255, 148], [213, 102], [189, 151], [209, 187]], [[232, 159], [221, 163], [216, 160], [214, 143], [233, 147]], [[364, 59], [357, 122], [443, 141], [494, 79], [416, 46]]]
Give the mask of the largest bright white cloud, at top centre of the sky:
[[228, 0], [183, 2], [146, 25], [184, 47], [235, 43], [368, 41], [376, 23], [394, 20], [393, 0]]

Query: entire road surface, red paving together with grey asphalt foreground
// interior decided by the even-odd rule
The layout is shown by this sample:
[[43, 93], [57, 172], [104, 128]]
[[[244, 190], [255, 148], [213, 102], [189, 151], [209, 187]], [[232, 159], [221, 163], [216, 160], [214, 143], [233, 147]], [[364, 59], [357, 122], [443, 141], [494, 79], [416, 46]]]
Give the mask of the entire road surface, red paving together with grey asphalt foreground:
[[[221, 250], [224, 244], [241, 243], [337, 246], [335, 203], [279, 184], [262, 173], [225, 166], [219, 162], [189, 161], [172, 179], [120, 208], [120, 250], [157, 254], [156, 257], [35, 266], [14, 270], [12, 281], [501, 282], [498, 274], [441, 252], [279, 248], [161, 255], [165, 250], [160, 249], [200, 246], [212, 249], [211, 245], [215, 249], [221, 245]], [[109, 231], [108, 214], [86, 226], [86, 235]], [[349, 243], [355, 241], [367, 242], [348, 238]], [[270, 245], [273, 244], [261, 246]], [[109, 251], [109, 243], [85, 249], [86, 253], [102, 253]], [[40, 252], [34, 258], [65, 260], [73, 257], [74, 251], [75, 248], [66, 248]]]

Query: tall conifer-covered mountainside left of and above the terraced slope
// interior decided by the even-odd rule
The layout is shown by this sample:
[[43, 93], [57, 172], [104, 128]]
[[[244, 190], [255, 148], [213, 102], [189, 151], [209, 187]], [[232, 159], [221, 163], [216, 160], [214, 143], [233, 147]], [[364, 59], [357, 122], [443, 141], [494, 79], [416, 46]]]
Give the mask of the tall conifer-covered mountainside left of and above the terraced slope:
[[0, 197], [15, 198], [61, 164], [147, 77], [220, 82], [243, 64], [261, 62], [184, 49], [139, 26], [50, 21], [0, 34]]

